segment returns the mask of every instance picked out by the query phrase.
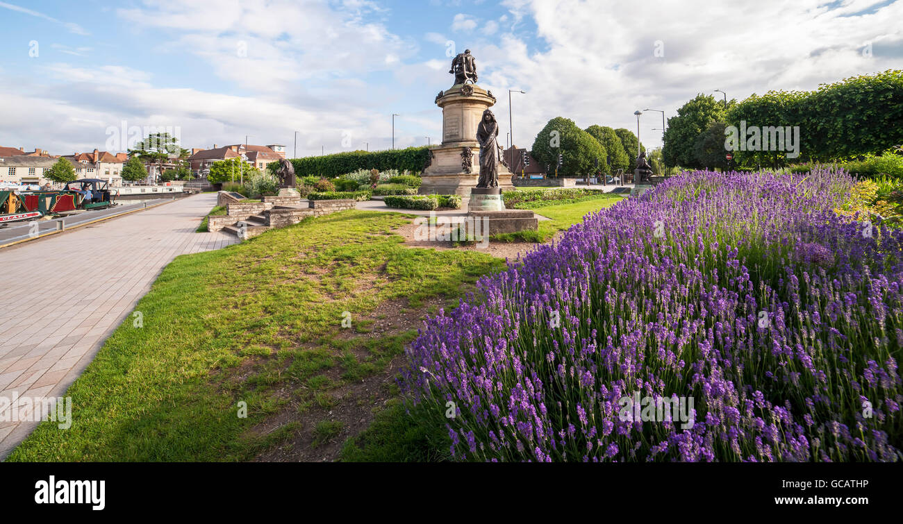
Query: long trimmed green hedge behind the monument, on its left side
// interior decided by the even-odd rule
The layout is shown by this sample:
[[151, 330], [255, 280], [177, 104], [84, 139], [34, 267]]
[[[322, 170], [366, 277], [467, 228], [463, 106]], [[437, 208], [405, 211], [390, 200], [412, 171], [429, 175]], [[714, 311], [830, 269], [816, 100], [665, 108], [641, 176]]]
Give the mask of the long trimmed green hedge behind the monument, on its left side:
[[409, 147], [376, 152], [340, 152], [322, 156], [292, 159], [294, 172], [299, 176], [312, 175], [318, 178], [334, 179], [356, 170], [409, 170], [419, 173], [424, 170], [429, 158], [429, 148]]

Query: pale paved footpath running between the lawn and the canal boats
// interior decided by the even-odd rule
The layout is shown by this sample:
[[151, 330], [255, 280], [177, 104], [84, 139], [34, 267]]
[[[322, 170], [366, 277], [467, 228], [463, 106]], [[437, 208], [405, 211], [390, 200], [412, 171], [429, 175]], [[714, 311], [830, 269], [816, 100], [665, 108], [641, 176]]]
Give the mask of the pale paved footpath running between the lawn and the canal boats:
[[[0, 249], [0, 409], [16, 394], [61, 397], [166, 264], [235, 244], [194, 233], [216, 201], [182, 198]], [[0, 459], [36, 426], [0, 417]]]

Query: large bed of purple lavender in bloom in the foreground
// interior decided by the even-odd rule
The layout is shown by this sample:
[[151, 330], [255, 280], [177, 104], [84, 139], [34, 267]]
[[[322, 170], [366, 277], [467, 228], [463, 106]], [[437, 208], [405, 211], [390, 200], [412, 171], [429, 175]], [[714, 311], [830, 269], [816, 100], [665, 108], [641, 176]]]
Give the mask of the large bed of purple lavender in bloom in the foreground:
[[669, 179], [430, 318], [402, 389], [458, 460], [898, 460], [903, 234], [833, 213], [851, 188]]

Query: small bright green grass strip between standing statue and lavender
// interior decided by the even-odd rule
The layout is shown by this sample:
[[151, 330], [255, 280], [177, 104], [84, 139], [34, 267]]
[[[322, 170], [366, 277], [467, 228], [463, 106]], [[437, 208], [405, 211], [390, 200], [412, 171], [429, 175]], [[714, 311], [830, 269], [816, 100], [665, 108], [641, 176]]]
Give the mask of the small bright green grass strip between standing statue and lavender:
[[519, 231], [517, 233], [496, 234], [491, 240], [500, 242], [537, 242], [550, 240], [559, 231], [566, 230], [583, 221], [583, 216], [594, 213], [605, 207], [617, 204], [622, 197], [605, 195], [603, 197], [578, 198], [576, 201], [537, 201], [524, 202], [518, 209], [532, 209], [537, 215], [551, 220], [540, 220], [536, 231]]

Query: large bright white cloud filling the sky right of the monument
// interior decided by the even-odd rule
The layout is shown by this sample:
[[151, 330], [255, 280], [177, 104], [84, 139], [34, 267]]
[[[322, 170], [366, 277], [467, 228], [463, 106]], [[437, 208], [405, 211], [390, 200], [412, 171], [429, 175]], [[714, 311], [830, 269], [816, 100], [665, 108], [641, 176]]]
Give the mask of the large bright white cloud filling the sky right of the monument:
[[[900, 1], [855, 16], [850, 14], [883, 2], [849, 0], [831, 10], [822, 0], [684, 0], [657, 3], [655, 17], [646, 3], [504, 4], [515, 16], [529, 16], [547, 45], [535, 52], [526, 41], [502, 34], [498, 46], [474, 50], [481, 85], [501, 93], [508, 87], [528, 91], [513, 100], [521, 146], [532, 144], [554, 116], [572, 118], [581, 127], [636, 129], [635, 110], [651, 107], [674, 116], [697, 93], [715, 88], [737, 99], [769, 89], [814, 89], [852, 75], [899, 69], [903, 58]], [[656, 41], [664, 44], [663, 58], [654, 56]], [[871, 58], [861, 52], [866, 41], [874, 42]], [[507, 97], [499, 97], [497, 113], [507, 109]], [[661, 132], [650, 131], [653, 127], [661, 127], [659, 114], [641, 117], [641, 139], [655, 146]]]

